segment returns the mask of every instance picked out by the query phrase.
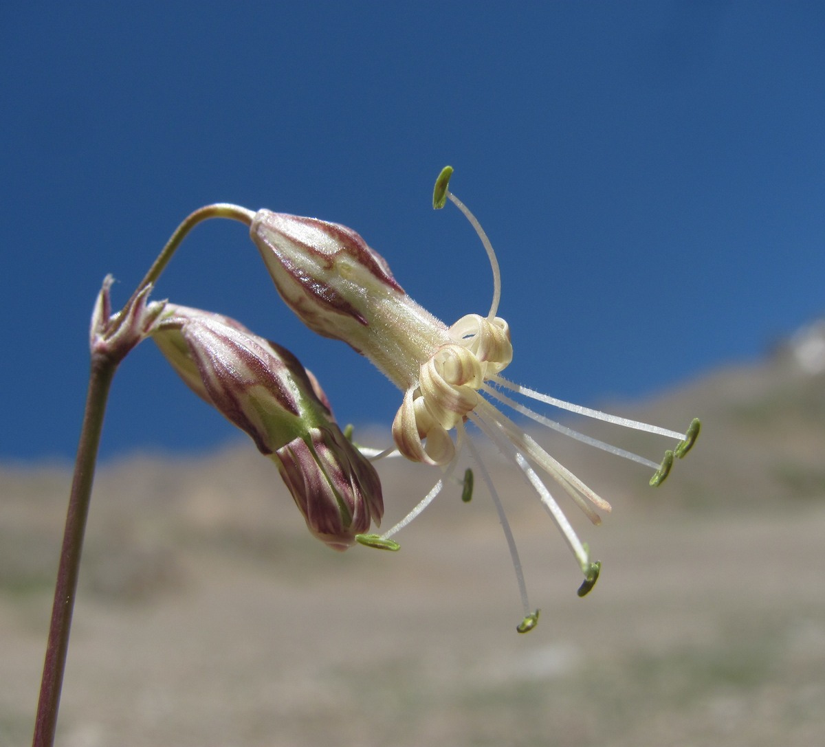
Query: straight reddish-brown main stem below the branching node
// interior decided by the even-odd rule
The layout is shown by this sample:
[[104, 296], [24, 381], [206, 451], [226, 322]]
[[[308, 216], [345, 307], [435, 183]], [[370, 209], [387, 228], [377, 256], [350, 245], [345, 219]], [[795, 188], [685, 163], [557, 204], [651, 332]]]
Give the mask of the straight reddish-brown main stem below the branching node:
[[117, 362], [107, 355], [92, 356], [92, 371], [86, 398], [86, 411], [78, 444], [78, 456], [74, 464], [72, 491], [68, 499], [66, 528], [57, 583], [54, 586], [54, 606], [46, 644], [43, 679], [40, 681], [40, 700], [37, 704], [33, 747], [51, 747], [57, 726], [60, 705], [60, 689], [66, 669], [68, 633], [72, 626], [74, 598], [78, 588], [78, 571], [92, 495], [97, 449], [100, 444], [106, 399], [115, 375]]

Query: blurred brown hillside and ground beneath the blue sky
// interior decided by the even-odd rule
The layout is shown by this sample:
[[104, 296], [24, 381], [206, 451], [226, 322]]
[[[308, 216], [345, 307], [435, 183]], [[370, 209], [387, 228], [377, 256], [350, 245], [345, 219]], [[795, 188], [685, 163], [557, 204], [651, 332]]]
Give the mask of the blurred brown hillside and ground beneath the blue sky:
[[[400, 552], [339, 555], [251, 448], [105, 467], [59, 744], [825, 744], [825, 449], [809, 432], [825, 395], [806, 389], [791, 422], [790, 389], [747, 373], [648, 408], [665, 425], [705, 417], [658, 491], [641, 468], [548, 442], [614, 505], [597, 528], [568, 509], [604, 563], [585, 599], [549, 518], [490, 458], [542, 608], [526, 636], [478, 479], [471, 504], [446, 491]], [[769, 427], [777, 397], [788, 422]], [[381, 475], [386, 526], [436, 479], [400, 461]], [[68, 472], [7, 466], [0, 490], [0, 745], [26, 745]]]

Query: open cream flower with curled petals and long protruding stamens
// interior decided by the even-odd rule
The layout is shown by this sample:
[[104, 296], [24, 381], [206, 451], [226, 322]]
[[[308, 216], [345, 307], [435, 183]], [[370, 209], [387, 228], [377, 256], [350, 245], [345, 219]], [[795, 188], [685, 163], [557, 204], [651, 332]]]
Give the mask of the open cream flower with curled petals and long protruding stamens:
[[[610, 510], [610, 505], [493, 402], [500, 402], [522, 416], [575, 439], [652, 467], [655, 472], [651, 483], [654, 485], [667, 476], [674, 456], [683, 457], [691, 449], [699, 432], [699, 421], [694, 420], [686, 433], [679, 433], [572, 405], [503, 378], [502, 370], [512, 361], [513, 352], [507, 322], [497, 317], [501, 282], [496, 256], [478, 221], [447, 190], [451, 173], [452, 169], [446, 167], [436, 181], [433, 206], [441, 208], [449, 198], [479, 233], [493, 268], [493, 302], [486, 316], [468, 314], [448, 327], [404, 293], [384, 258], [351, 228], [316, 218], [261, 210], [252, 220], [250, 234], [281, 297], [304, 323], [319, 334], [345, 341], [366, 355], [403, 391], [403, 402], [393, 423], [398, 451], [413, 461], [445, 469], [445, 476], [424, 500], [382, 539], [389, 538], [408, 524], [435, 498], [455, 467], [460, 444], [466, 441], [493, 496], [507, 536], [525, 607], [525, 618], [519, 630], [525, 632], [535, 626], [538, 612], [530, 611], [512, 533], [493, 481], [466, 433], [466, 422], [478, 426], [502, 453], [512, 459], [540, 497], [582, 569], [585, 580], [579, 594], [583, 595], [595, 584], [600, 564], [591, 561], [587, 546], [573, 531], [542, 474], [551, 477], [593, 523], [599, 521], [596, 509]], [[677, 444], [658, 464], [549, 420], [502, 390], [580, 415], [662, 435], [676, 440]]]

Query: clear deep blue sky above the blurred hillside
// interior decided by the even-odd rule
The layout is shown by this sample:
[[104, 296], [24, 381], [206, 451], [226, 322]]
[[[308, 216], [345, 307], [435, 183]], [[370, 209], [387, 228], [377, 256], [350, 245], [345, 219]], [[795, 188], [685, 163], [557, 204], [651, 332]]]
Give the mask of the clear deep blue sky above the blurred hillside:
[[[0, 9], [0, 458], [70, 458], [101, 280], [125, 301], [216, 201], [345, 223], [446, 322], [502, 264], [511, 378], [598, 404], [757, 359], [825, 313], [818, 2], [30, 2]], [[278, 298], [243, 226], [196, 228], [158, 284], [314, 369], [339, 420], [400, 393]], [[676, 424], [678, 425], [678, 424]], [[102, 455], [232, 426], [151, 343]]]

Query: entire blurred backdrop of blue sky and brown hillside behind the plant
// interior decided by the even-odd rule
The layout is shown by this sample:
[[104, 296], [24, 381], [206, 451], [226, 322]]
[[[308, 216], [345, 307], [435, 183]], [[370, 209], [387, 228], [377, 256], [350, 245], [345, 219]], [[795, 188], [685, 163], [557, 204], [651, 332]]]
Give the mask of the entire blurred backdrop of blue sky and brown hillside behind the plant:
[[[502, 265], [511, 378], [683, 428], [649, 475], [559, 439], [615, 506], [572, 559], [490, 455], [396, 555], [310, 538], [274, 467], [152, 345], [115, 378], [65, 745], [817, 745], [825, 741], [825, 11], [804, 2], [279, 2], [0, 8], [0, 743], [30, 740], [101, 280], [124, 302], [215, 201], [355, 228], [446, 322]], [[400, 394], [306, 331], [243, 226], [158, 284], [293, 350], [389, 443]], [[586, 426], [582, 426], [586, 427]], [[594, 435], [661, 456], [655, 439]], [[387, 520], [436, 475], [382, 466]], [[578, 517], [574, 517], [578, 519]]]

